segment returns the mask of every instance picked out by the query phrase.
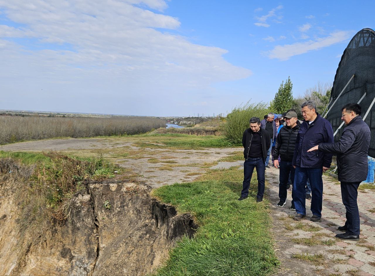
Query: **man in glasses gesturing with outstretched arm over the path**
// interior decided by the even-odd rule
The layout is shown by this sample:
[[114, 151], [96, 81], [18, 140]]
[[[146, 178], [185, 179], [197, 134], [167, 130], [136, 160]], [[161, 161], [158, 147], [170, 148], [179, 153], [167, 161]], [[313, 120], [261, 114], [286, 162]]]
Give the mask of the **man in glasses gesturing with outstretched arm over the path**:
[[322, 151], [337, 154], [338, 178], [341, 182], [342, 203], [347, 210], [347, 221], [338, 229], [346, 233], [337, 234], [342, 240], [359, 240], [360, 220], [357, 205], [357, 189], [367, 178], [371, 132], [361, 118], [358, 104], [347, 104], [342, 109], [341, 118], [347, 127], [337, 143], [320, 143], [309, 151]]

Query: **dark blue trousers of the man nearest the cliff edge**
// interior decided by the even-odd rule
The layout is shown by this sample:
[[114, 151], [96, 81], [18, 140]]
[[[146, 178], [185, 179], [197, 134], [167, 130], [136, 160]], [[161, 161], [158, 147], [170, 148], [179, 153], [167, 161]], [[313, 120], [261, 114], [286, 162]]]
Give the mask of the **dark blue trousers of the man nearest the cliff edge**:
[[248, 158], [243, 163], [243, 184], [241, 196], [246, 198], [249, 195], [249, 186], [251, 177], [253, 176], [254, 168], [257, 169], [258, 176], [258, 194], [257, 198], [263, 198], [264, 194], [264, 171], [266, 166], [262, 157], [259, 158]]

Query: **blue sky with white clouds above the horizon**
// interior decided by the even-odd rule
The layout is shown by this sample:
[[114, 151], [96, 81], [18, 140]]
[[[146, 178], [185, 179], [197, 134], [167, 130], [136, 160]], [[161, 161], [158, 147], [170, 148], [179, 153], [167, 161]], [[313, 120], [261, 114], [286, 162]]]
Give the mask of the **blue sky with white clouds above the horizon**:
[[373, 2], [0, 0], [0, 109], [227, 114], [332, 83]]

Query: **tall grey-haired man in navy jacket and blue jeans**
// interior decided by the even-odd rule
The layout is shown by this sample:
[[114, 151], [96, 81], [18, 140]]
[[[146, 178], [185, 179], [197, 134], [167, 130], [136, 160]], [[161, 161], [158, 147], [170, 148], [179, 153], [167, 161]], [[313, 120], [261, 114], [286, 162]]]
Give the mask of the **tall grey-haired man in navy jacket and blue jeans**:
[[301, 124], [297, 135], [296, 148], [292, 165], [296, 168], [293, 183], [294, 206], [296, 216], [294, 220], [302, 220], [306, 216], [306, 182], [311, 185], [311, 221], [321, 220], [323, 202], [322, 174], [329, 169], [332, 154], [321, 151], [308, 152], [313, 146], [320, 143], [333, 143], [331, 124], [316, 112], [315, 103], [306, 101], [302, 104], [302, 116], [305, 122]]

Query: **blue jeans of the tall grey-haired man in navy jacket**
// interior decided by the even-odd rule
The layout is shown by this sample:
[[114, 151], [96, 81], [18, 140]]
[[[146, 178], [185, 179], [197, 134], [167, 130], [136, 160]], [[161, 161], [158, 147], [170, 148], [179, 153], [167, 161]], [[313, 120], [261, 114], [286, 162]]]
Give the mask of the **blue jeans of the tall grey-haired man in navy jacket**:
[[323, 168], [312, 169], [296, 166], [294, 175], [294, 206], [298, 214], [306, 215], [306, 182], [307, 179], [311, 185], [311, 212], [313, 215], [322, 216], [323, 202]]

